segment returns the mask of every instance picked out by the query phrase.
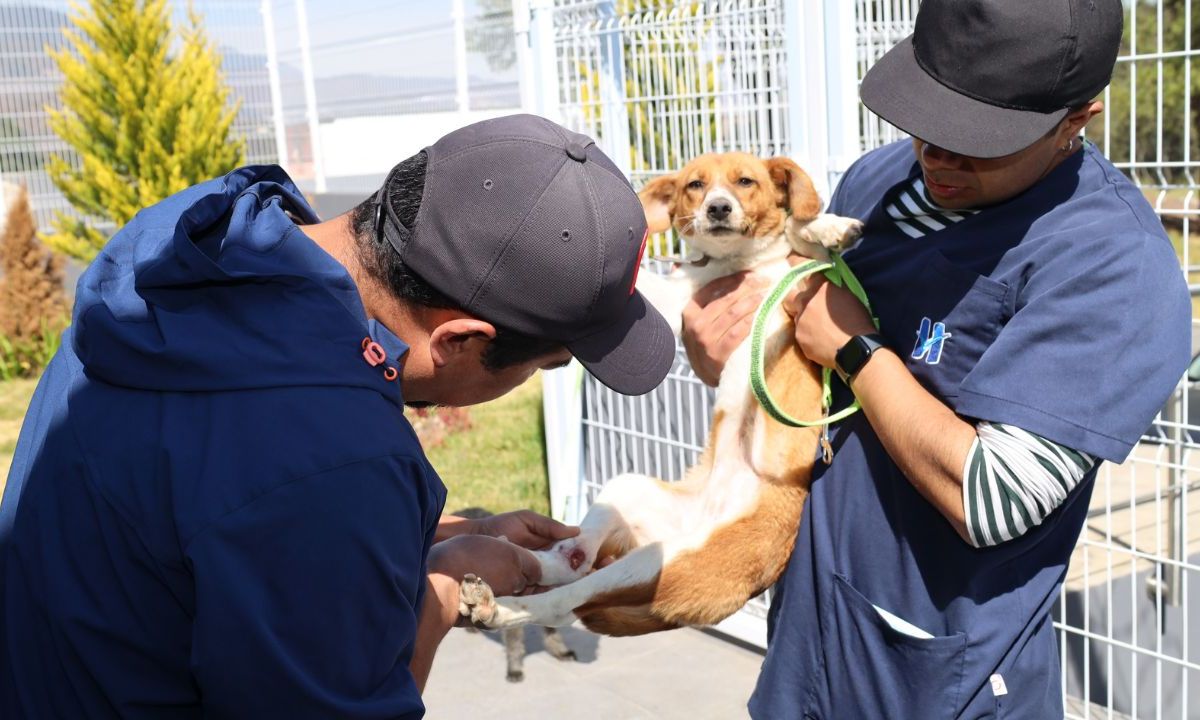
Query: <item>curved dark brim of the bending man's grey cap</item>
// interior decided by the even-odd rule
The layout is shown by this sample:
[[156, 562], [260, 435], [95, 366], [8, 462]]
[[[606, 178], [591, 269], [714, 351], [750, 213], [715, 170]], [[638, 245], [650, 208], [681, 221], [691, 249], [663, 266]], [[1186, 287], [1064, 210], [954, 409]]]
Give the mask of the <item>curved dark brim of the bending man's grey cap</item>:
[[654, 390], [674, 364], [671, 326], [636, 292], [617, 322], [566, 343], [566, 349], [598, 380], [623, 395]]

